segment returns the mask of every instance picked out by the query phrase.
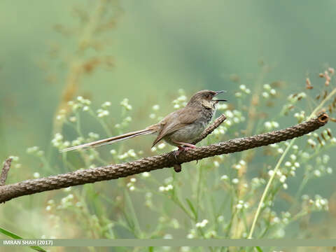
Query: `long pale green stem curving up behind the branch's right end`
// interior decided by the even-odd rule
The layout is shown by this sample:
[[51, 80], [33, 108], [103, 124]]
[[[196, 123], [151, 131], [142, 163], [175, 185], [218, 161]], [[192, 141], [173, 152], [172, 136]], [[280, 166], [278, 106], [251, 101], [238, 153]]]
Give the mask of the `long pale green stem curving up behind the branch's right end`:
[[[325, 99], [323, 99], [322, 102], [321, 102], [320, 104], [318, 104], [318, 106], [316, 106], [316, 108], [314, 109], [313, 112], [311, 112], [311, 114], [310, 114], [310, 116], [307, 118], [307, 120], [310, 120], [311, 118], [313, 118], [313, 117], [315, 116], [315, 114], [316, 114], [318, 111], [320, 111], [320, 110], [322, 109], [322, 107], [323, 107], [323, 105], [325, 104], [325, 102], [327, 102], [327, 101], [328, 101], [334, 94], [336, 94], [336, 88], [334, 88], [334, 89], [332, 90], [332, 92], [330, 92], [330, 94], [328, 94], [328, 96], [325, 97]], [[293, 146], [293, 144], [295, 143], [295, 140], [296, 140], [296, 139], [292, 139], [292, 140], [290, 141], [290, 144], [287, 146], [286, 150], [283, 151], [281, 157], [279, 158], [278, 162], [276, 163], [276, 166], [275, 166], [275, 168], [274, 168], [274, 172], [273, 172], [272, 176], [270, 177], [270, 179], [269, 179], [269, 181], [268, 181], [268, 183], [267, 183], [267, 185], [266, 185], [266, 188], [265, 188], [265, 190], [264, 190], [264, 193], [262, 193], [260, 202], [259, 202], [259, 204], [258, 204], [257, 211], [255, 212], [255, 216], [254, 216], [254, 218], [253, 218], [253, 223], [252, 223], [252, 225], [251, 225], [251, 230], [250, 230], [250, 232], [249, 232], [249, 234], [248, 234], [247, 239], [252, 239], [252, 235], [253, 235], [253, 232], [254, 232], [254, 230], [255, 230], [255, 225], [256, 225], [256, 223], [257, 223], [257, 221], [258, 221], [258, 217], [259, 217], [259, 215], [260, 215], [260, 211], [261, 211], [261, 209], [262, 209], [262, 205], [263, 205], [263, 203], [264, 203], [264, 201], [265, 201], [265, 198], [266, 198], [266, 195], [267, 195], [267, 193], [268, 193], [268, 191], [269, 191], [269, 188], [271, 187], [271, 184], [272, 184], [272, 182], [274, 181], [274, 178], [275, 178], [275, 176], [276, 176], [276, 172], [278, 171], [278, 169], [279, 169], [279, 167], [280, 167], [280, 165], [281, 165], [283, 159], [286, 157], [286, 154], [288, 153], [289, 149], [290, 149], [290, 148]]]

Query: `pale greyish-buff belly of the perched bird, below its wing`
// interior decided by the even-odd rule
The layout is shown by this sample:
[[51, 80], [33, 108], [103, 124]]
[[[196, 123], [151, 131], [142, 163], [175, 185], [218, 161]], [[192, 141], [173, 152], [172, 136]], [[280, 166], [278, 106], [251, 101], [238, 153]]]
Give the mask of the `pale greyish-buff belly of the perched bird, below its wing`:
[[164, 137], [164, 140], [173, 146], [179, 146], [179, 144], [174, 143], [176, 141], [191, 144], [197, 137], [200, 136], [200, 134], [202, 134], [206, 126], [206, 123], [193, 123], [181, 128], [180, 130], [176, 130], [176, 132], [172, 134], [169, 134], [167, 137]]

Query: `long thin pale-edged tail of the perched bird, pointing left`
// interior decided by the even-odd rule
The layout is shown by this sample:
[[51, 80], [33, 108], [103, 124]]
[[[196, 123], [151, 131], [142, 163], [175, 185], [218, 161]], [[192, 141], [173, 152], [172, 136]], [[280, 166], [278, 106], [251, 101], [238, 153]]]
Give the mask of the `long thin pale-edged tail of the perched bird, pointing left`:
[[105, 144], [113, 144], [116, 143], [118, 141], [123, 141], [125, 139], [130, 139], [132, 137], [138, 137], [138, 136], [142, 136], [142, 135], [146, 135], [146, 134], [153, 134], [155, 133], [155, 130], [138, 130], [136, 132], [129, 132], [126, 134], [122, 134], [120, 136], [117, 137], [109, 137], [107, 139], [102, 139], [102, 140], [98, 140], [98, 141], [93, 141], [87, 144], [80, 144], [79, 146], [73, 146], [73, 147], [69, 147], [69, 148], [65, 148], [63, 150], [61, 150], [61, 152], [66, 152], [66, 151], [73, 151], [73, 150], [78, 150], [80, 148], [87, 148], [87, 147], [98, 147], [98, 146], [103, 146]]

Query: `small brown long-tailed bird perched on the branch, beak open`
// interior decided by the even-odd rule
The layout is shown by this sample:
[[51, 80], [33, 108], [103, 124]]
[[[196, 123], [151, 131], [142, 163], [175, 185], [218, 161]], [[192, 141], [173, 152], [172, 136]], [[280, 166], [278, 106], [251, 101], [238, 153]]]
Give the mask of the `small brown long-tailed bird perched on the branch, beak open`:
[[118, 137], [92, 141], [87, 144], [66, 148], [61, 152], [113, 144], [132, 137], [157, 133], [158, 137], [156, 137], [152, 147], [163, 139], [168, 144], [178, 146], [179, 151], [176, 154], [179, 154], [180, 151], [196, 147], [191, 143], [202, 134], [205, 127], [207, 127], [211, 121], [216, 111], [216, 104], [218, 104], [218, 102], [226, 102], [225, 99], [213, 99], [217, 94], [223, 92], [225, 91], [215, 92], [202, 90], [194, 94], [183, 109], [169, 113], [169, 115], [160, 120], [159, 123], [148, 126], [145, 130], [138, 130], [136, 132], [122, 134]]

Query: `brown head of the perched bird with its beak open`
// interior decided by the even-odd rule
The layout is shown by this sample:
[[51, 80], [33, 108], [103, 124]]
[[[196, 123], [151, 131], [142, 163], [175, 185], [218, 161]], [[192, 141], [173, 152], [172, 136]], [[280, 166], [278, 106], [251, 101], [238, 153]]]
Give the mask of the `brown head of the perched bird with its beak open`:
[[197, 92], [196, 94], [191, 97], [190, 101], [188, 102], [187, 106], [204, 106], [206, 109], [216, 109], [216, 104], [218, 102], [226, 102], [225, 99], [214, 99], [217, 94], [221, 94], [226, 92], [225, 90], [222, 91], [211, 91], [211, 90], [202, 90]]

